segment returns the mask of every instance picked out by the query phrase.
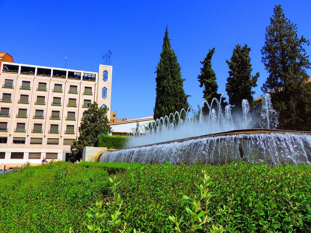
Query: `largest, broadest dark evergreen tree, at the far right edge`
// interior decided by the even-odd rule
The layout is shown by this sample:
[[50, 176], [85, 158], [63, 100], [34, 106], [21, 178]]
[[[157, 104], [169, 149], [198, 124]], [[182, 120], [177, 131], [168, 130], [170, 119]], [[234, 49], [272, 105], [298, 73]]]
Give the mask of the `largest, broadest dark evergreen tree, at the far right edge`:
[[303, 48], [309, 40], [298, 38], [296, 25], [285, 17], [281, 5], [273, 11], [261, 50], [269, 73], [262, 91], [271, 94], [273, 107], [280, 113], [280, 128], [310, 130], [311, 93], [305, 82], [311, 64]]

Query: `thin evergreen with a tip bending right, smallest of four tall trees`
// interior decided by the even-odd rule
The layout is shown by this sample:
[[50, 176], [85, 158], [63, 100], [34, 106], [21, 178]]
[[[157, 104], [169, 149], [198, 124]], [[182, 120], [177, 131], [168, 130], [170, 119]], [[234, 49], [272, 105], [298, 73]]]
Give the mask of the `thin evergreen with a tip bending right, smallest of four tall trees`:
[[203, 98], [206, 99], [209, 104], [214, 97], [217, 99], [220, 98], [220, 94], [217, 94], [218, 84], [216, 82], [216, 74], [213, 71], [211, 63], [211, 59], [214, 53], [215, 48], [210, 49], [204, 61], [200, 62], [203, 67], [200, 68], [201, 75], [197, 76], [197, 79], [200, 82], [200, 87], [204, 86]]

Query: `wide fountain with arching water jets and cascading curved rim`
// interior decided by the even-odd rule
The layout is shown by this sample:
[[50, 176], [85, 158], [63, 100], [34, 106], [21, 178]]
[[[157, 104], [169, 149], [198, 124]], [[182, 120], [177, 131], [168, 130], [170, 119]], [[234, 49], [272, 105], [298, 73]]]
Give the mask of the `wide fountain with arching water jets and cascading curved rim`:
[[[222, 103], [227, 103], [224, 109]], [[125, 149], [103, 153], [99, 162], [170, 163], [197, 161], [213, 165], [243, 161], [269, 164], [311, 162], [311, 132], [275, 130], [278, 114], [269, 94], [259, 114], [242, 101], [242, 114], [231, 114], [223, 93], [202, 108], [196, 105], [134, 128]], [[249, 129], [261, 126], [261, 129]], [[264, 129], [267, 128], [267, 129]], [[142, 132], [142, 133], [137, 133]]]

